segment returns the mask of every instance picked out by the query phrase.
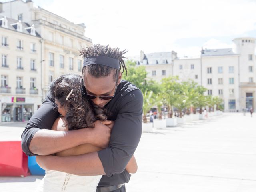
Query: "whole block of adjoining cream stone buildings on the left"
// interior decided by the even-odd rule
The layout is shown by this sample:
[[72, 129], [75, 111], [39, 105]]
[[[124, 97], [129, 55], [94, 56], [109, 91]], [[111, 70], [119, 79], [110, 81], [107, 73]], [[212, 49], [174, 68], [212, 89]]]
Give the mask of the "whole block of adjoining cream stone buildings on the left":
[[[78, 50], [82, 46], [91, 46], [92, 39], [84, 36], [86, 28], [84, 24], [74, 24], [65, 18], [35, 6], [31, 0], [26, 2], [22, 0], [0, 2], [0, 19], [4, 17], [9, 20], [8, 23], [12, 27], [5, 28], [2, 27], [2, 24], [0, 27], [2, 41], [4, 44], [8, 44], [7, 47], [1, 46], [0, 49], [1, 57], [4, 55], [2, 57], [4, 66], [1, 65], [0, 68], [2, 82], [2, 92], [0, 94], [3, 94], [4, 97], [1, 95], [0, 107], [2, 108], [2, 118], [6, 113], [11, 114], [11, 116], [10, 118], [4, 118], [4, 120], [1, 118], [1, 120], [27, 120], [42, 104], [50, 82], [62, 74], [82, 74], [83, 62]], [[20, 23], [23, 26], [22, 31], [16, 28], [14, 23]], [[36, 35], [30, 34], [31, 32], [35, 32]], [[15, 38], [11, 38], [11, 33], [12, 37]], [[7, 37], [8, 43], [5, 43], [5, 37]], [[18, 40], [21, 41], [16, 42]], [[5, 61], [7, 64], [5, 64]], [[36, 86], [32, 82], [36, 82]], [[37, 94], [31, 95], [32, 88], [30, 88], [30, 84], [34, 85], [32, 88], [35, 92], [37, 90]], [[14, 85], [16, 86], [14, 87]], [[21, 88], [20, 92], [22, 93], [17, 92], [16, 87]], [[38, 100], [35, 101], [32, 98], [25, 97], [25, 94], [30, 97], [33, 96], [33, 98], [36, 95]], [[6, 98], [7, 95], [8, 98], [16, 98], [16, 103], [25, 98], [25, 103], [33, 104], [32, 109], [27, 110], [27, 106], [16, 104], [22, 112], [21, 117], [16, 117], [14, 112], [17, 107], [12, 104], [15, 102], [10, 102]], [[28, 112], [30, 116], [24, 116]]]

